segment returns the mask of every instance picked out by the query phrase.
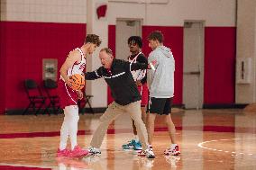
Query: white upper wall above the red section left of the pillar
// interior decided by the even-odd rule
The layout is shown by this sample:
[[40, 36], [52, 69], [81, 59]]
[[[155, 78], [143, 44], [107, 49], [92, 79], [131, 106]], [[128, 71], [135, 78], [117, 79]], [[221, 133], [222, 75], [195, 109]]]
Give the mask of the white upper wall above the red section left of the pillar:
[[1, 0], [1, 20], [87, 22], [86, 0]]

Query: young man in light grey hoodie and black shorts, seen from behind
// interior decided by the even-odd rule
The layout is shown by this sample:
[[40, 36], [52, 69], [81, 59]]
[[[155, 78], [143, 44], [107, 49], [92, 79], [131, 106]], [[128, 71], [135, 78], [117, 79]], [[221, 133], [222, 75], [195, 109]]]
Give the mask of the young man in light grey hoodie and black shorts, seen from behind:
[[[163, 35], [160, 31], [152, 31], [148, 37], [149, 46], [152, 49], [149, 62], [156, 60], [155, 70], [147, 72], [147, 83], [150, 89], [149, 117], [147, 130], [149, 143], [152, 144], [154, 121], [156, 115], [165, 117], [169, 130], [170, 146], [164, 151], [165, 155], [177, 156], [180, 154], [175, 138], [175, 126], [171, 120], [171, 102], [174, 93], [175, 61], [169, 48], [163, 46]], [[151, 147], [151, 146], [150, 146]]]

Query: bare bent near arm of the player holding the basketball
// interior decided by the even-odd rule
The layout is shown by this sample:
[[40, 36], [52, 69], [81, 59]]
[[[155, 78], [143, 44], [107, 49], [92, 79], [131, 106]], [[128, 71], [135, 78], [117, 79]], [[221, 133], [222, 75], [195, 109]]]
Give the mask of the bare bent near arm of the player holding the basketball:
[[70, 85], [69, 76], [68, 76], [68, 69], [69, 67], [73, 67], [74, 63], [79, 62], [81, 59], [80, 53], [78, 50], [71, 51], [69, 53], [68, 58], [66, 58], [63, 65], [60, 67], [60, 75], [64, 78], [65, 82]]

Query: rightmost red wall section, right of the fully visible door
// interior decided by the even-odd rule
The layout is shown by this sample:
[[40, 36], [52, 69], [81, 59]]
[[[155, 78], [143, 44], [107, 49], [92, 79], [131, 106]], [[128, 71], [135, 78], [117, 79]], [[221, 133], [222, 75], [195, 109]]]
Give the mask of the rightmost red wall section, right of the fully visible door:
[[206, 27], [204, 103], [234, 103], [235, 42], [234, 27]]

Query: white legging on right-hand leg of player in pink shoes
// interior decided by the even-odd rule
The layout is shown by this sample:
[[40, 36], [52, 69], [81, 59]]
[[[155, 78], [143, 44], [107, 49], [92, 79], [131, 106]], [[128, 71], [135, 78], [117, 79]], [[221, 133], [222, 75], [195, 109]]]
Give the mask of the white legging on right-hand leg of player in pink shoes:
[[73, 150], [78, 145], [78, 105], [68, 106], [69, 110], [69, 139], [71, 149]]

